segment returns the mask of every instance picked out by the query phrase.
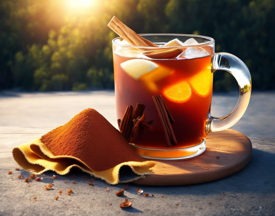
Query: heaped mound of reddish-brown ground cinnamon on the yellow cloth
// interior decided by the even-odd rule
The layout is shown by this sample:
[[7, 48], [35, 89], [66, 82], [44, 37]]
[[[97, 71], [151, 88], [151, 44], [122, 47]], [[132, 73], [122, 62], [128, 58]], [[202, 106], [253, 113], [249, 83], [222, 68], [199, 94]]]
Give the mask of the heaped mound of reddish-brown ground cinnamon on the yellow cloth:
[[41, 141], [54, 156], [76, 157], [94, 171], [127, 161], [145, 161], [106, 118], [90, 108], [46, 133]]

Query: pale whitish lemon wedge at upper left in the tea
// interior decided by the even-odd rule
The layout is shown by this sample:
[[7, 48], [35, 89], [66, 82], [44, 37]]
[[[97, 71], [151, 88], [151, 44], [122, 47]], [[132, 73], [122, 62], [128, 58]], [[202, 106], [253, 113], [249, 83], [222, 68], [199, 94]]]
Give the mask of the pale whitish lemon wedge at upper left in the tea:
[[131, 59], [120, 64], [121, 68], [134, 79], [149, 73], [158, 68], [158, 65], [152, 61], [144, 59]]

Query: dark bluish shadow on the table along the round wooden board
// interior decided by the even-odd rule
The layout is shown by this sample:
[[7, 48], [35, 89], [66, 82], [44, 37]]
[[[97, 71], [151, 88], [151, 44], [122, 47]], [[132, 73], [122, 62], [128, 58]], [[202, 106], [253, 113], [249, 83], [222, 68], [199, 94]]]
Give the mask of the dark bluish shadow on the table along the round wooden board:
[[[183, 161], [184, 162], [184, 161]], [[252, 150], [250, 162], [241, 171], [223, 179], [207, 183], [183, 186], [138, 186], [162, 194], [209, 195], [227, 192], [234, 193], [274, 193], [275, 192], [275, 153], [258, 149]]]

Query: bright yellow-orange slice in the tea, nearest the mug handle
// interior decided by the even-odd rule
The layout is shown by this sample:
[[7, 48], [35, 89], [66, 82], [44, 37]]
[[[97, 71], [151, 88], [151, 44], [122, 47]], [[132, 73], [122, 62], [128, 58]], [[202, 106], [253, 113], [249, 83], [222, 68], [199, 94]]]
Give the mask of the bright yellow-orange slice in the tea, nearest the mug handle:
[[197, 95], [206, 97], [212, 88], [213, 74], [210, 70], [200, 71], [189, 79], [189, 83]]

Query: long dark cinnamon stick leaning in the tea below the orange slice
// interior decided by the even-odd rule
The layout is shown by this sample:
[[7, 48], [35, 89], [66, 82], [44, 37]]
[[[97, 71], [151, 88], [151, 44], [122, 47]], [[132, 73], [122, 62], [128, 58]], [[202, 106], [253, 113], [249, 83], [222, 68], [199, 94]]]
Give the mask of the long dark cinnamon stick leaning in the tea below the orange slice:
[[152, 98], [161, 120], [161, 126], [164, 131], [166, 145], [167, 146], [176, 145], [177, 141], [171, 125], [171, 122], [173, 123], [175, 121], [172, 118], [172, 115], [169, 112], [164, 99], [161, 97], [161, 95], [154, 95]]

